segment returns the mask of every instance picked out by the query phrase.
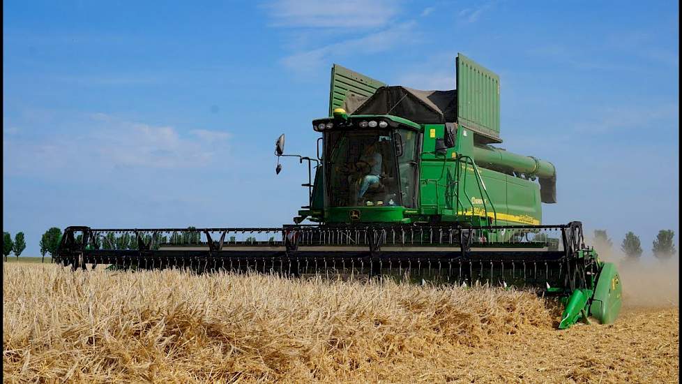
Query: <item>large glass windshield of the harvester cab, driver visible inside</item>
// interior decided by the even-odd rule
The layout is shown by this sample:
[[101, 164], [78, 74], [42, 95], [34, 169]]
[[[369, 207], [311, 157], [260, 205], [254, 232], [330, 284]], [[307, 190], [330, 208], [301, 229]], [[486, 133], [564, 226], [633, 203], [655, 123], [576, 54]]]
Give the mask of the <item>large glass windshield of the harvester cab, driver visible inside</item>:
[[[414, 207], [415, 133], [363, 129], [324, 135], [328, 207]], [[397, 147], [403, 154], [396, 157]]]

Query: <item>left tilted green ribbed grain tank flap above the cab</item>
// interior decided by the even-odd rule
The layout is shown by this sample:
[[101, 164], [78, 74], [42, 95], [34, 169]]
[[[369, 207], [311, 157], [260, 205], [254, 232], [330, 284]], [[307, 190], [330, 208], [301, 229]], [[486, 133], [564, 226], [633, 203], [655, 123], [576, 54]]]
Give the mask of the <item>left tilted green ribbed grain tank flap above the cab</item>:
[[386, 84], [372, 77], [362, 75], [338, 64], [331, 67], [331, 86], [329, 89], [329, 116], [335, 108], [340, 108], [349, 94], [369, 97]]

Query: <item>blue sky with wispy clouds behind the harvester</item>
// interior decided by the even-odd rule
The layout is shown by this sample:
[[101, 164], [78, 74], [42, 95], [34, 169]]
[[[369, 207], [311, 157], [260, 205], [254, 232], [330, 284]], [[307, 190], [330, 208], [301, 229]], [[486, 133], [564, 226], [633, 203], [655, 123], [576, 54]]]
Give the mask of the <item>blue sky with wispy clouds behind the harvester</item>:
[[[3, 230], [291, 223], [332, 64], [501, 77], [501, 147], [557, 169], [545, 223], [679, 244], [675, 1], [3, 1]], [[679, 249], [679, 246], [678, 246]]]

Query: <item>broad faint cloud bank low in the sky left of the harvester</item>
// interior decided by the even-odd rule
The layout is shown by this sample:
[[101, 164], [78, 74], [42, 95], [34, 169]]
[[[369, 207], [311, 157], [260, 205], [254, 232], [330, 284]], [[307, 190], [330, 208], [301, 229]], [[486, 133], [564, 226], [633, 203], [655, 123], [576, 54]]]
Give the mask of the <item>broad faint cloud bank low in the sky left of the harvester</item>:
[[[195, 129], [183, 135], [172, 126], [124, 121], [103, 113], [73, 121], [79, 135], [3, 140], [3, 172], [50, 175], [105, 169], [185, 169], [225, 156], [229, 133]], [[87, 159], [87, 161], [84, 161]]]

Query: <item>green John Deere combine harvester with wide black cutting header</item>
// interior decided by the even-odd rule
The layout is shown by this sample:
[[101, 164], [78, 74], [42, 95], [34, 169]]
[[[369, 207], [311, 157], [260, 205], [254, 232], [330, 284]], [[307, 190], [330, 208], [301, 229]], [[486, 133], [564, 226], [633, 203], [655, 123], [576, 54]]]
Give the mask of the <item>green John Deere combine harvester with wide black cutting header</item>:
[[317, 158], [285, 154], [284, 135], [275, 144], [278, 159], [308, 164], [308, 205], [290, 225], [74, 226], [54, 261], [514, 286], [560, 297], [560, 328], [613, 323], [616, 267], [584, 244], [580, 222], [542, 223], [541, 204], [556, 202], [554, 165], [494, 147], [499, 77], [462, 54], [455, 64], [450, 91], [389, 87], [334, 65], [329, 115], [312, 121]]

